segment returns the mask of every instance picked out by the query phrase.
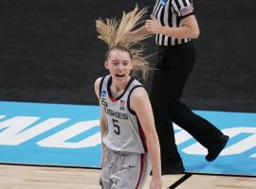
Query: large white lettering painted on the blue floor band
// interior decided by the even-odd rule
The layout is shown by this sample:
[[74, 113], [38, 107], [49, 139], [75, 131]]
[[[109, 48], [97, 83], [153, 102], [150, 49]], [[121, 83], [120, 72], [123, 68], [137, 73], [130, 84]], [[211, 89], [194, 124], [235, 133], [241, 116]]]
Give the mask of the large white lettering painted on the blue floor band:
[[[70, 118], [52, 117], [44, 119], [39, 116], [14, 116], [8, 117], [0, 115], [0, 146], [23, 146], [27, 141], [35, 141], [36, 146], [42, 147], [61, 147], [61, 148], [82, 148], [101, 145], [100, 120], [80, 121], [71, 124], [64, 129], [57, 129], [58, 126], [70, 121]], [[87, 137], [79, 138], [70, 142], [70, 139], [76, 138], [82, 132], [96, 128], [98, 131]], [[56, 129], [53, 134], [46, 135], [46, 131]], [[192, 139], [192, 136], [178, 126], [176, 130], [176, 144], [181, 145]], [[220, 156], [229, 156], [243, 154], [250, 151], [249, 157], [256, 158], [256, 127], [236, 127], [222, 129], [222, 131], [232, 138], [239, 135], [246, 137], [235, 141], [222, 151]], [[42, 135], [44, 134], [44, 138]], [[46, 136], [45, 136], [46, 135]], [[39, 137], [40, 136], [40, 137]], [[38, 140], [36, 140], [38, 138]], [[253, 151], [254, 150], [254, 151]], [[182, 149], [187, 154], [206, 155], [207, 149], [198, 143], [192, 143]]]

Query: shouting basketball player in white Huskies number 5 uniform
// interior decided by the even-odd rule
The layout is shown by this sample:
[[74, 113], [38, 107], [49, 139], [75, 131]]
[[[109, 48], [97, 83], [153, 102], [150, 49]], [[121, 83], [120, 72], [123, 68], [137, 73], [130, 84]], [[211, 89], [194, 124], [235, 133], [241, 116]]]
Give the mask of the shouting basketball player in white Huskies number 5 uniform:
[[[145, 72], [148, 63], [139, 57], [138, 51], [122, 41], [117, 31], [127, 30], [127, 26], [131, 30], [137, 24], [135, 15], [124, 15], [121, 22], [128, 23], [120, 23], [119, 29], [97, 21], [100, 38], [108, 39], [104, 42], [110, 46], [104, 63], [110, 74], [95, 81], [95, 93], [101, 106], [100, 188], [103, 189], [142, 188], [151, 170], [150, 188], [162, 187], [160, 148], [149, 96], [130, 75], [135, 68]], [[132, 20], [134, 22], [129, 23]], [[117, 32], [113, 35], [106, 31]]]

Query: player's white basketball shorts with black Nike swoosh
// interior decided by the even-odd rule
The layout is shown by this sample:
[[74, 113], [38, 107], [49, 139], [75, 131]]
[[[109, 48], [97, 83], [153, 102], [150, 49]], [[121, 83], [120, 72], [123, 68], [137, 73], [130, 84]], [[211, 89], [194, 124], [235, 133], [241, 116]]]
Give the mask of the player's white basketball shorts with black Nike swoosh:
[[117, 152], [107, 147], [102, 161], [102, 189], [140, 189], [152, 168], [148, 154]]

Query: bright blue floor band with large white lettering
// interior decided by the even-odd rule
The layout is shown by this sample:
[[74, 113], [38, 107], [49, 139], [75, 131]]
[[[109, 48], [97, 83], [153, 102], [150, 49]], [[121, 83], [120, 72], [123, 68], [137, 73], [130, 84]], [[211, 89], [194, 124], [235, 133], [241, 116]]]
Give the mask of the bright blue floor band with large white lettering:
[[[187, 172], [256, 176], [256, 113], [194, 111], [230, 136], [216, 161], [175, 126]], [[100, 107], [0, 101], [0, 163], [99, 167]]]

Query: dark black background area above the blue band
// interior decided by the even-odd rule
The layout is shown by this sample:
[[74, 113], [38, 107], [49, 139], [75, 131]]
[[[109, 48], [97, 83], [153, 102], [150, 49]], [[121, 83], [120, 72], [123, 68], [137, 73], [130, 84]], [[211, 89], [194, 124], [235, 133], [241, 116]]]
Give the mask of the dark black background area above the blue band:
[[[1, 0], [0, 101], [98, 105], [93, 84], [107, 74], [107, 46], [95, 20], [120, 18], [136, 3], [151, 11], [155, 1]], [[201, 34], [183, 101], [194, 110], [256, 112], [254, 0], [193, 3]], [[145, 54], [154, 43], [146, 41]]]

